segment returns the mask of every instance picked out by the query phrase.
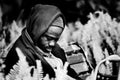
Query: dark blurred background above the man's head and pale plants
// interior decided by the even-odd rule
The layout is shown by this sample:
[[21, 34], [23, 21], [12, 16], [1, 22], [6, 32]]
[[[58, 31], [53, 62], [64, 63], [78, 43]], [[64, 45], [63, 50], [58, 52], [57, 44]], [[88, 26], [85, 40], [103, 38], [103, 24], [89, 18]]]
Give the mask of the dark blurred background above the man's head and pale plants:
[[120, 0], [0, 0], [3, 25], [12, 20], [22, 18], [24, 21], [29, 10], [35, 4], [52, 4], [58, 6], [64, 13], [67, 22], [88, 21], [90, 12], [102, 10], [120, 21]]

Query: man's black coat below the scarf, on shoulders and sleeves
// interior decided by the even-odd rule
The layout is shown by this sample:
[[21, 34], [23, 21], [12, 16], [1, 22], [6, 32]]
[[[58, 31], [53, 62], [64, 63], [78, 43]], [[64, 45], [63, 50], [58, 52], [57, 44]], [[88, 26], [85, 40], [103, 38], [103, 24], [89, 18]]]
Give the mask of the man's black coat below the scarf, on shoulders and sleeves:
[[[24, 41], [22, 40], [21, 37], [16, 41], [16, 43], [14, 44], [12, 49], [9, 51], [9, 53], [6, 57], [6, 60], [5, 60], [5, 65], [6, 65], [5, 74], [6, 75], [9, 73], [10, 69], [12, 69], [12, 66], [14, 64], [16, 64], [19, 60], [19, 57], [18, 57], [17, 52], [15, 50], [16, 47], [19, 47], [23, 51], [23, 53], [26, 55], [26, 59], [27, 59], [30, 66], [32, 66], [32, 65], [35, 66], [36, 65], [35, 60], [39, 59], [38, 55], [34, 54], [37, 51], [34, 49], [32, 50], [30, 48], [30, 45], [28, 45], [28, 44], [26, 45], [27, 42], [24, 43]], [[63, 61], [63, 63], [65, 63], [66, 57], [65, 57], [64, 50], [62, 48], [60, 48], [60, 46], [58, 44], [56, 44], [52, 53], [54, 56], [60, 58]], [[43, 57], [42, 57], [42, 59], [43, 59]], [[51, 77], [54, 77], [55, 73], [54, 73], [52, 67], [46, 62], [45, 59], [43, 59], [42, 64], [43, 64], [44, 72], [48, 73]], [[75, 71], [73, 69], [70, 68], [70, 66], [68, 67], [68, 75], [70, 75], [73, 78], [78, 78], [77, 74], [75, 73]]]

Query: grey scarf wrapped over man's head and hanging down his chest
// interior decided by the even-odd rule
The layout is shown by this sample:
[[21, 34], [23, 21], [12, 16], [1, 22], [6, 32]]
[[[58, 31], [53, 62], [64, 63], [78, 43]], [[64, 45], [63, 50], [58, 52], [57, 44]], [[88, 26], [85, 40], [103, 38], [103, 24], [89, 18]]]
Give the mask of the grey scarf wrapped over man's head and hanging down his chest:
[[30, 64], [35, 64], [36, 59], [41, 60], [44, 71], [49, 73], [50, 77], [55, 77], [55, 73], [35, 46], [37, 45], [37, 40], [53, 25], [61, 28], [65, 27], [65, 19], [61, 11], [53, 5], [37, 4], [32, 8], [26, 28], [22, 31], [21, 36], [21, 41], [27, 48], [23, 48], [23, 53], [27, 56], [28, 61], [31, 62]]

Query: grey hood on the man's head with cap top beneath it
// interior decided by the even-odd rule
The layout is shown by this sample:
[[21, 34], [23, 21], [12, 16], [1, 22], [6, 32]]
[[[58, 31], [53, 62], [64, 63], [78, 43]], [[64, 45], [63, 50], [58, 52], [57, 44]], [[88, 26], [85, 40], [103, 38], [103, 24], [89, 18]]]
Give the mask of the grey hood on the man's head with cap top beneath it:
[[26, 28], [34, 44], [50, 25], [64, 28], [65, 19], [61, 11], [53, 5], [38, 4], [33, 7]]

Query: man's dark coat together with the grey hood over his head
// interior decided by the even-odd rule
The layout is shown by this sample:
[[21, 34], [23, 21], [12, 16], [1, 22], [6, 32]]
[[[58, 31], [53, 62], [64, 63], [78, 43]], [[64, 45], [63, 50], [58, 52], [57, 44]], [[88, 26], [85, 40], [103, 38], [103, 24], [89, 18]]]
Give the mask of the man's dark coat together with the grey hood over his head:
[[[37, 46], [37, 40], [39, 39], [39, 37], [47, 31], [50, 24], [59, 16], [63, 18], [65, 26], [64, 17], [57, 7], [50, 5], [36, 5], [34, 8], [32, 8], [26, 28], [22, 31], [22, 35], [15, 42], [6, 57], [6, 75], [9, 73], [12, 66], [16, 64], [19, 60], [19, 57], [15, 50], [16, 47], [18, 47], [26, 56], [26, 60], [28, 61], [30, 66], [36, 66], [36, 60], [41, 60], [43, 71], [49, 74], [50, 77], [55, 77], [54, 70], [44, 59], [42, 53], [37, 50], [35, 46]], [[55, 45], [52, 54], [60, 58], [63, 63], [67, 61], [64, 50], [60, 48], [58, 44]], [[70, 66], [68, 67], [68, 75], [73, 78], [78, 78], [77, 74], [73, 69], [70, 68]]]

